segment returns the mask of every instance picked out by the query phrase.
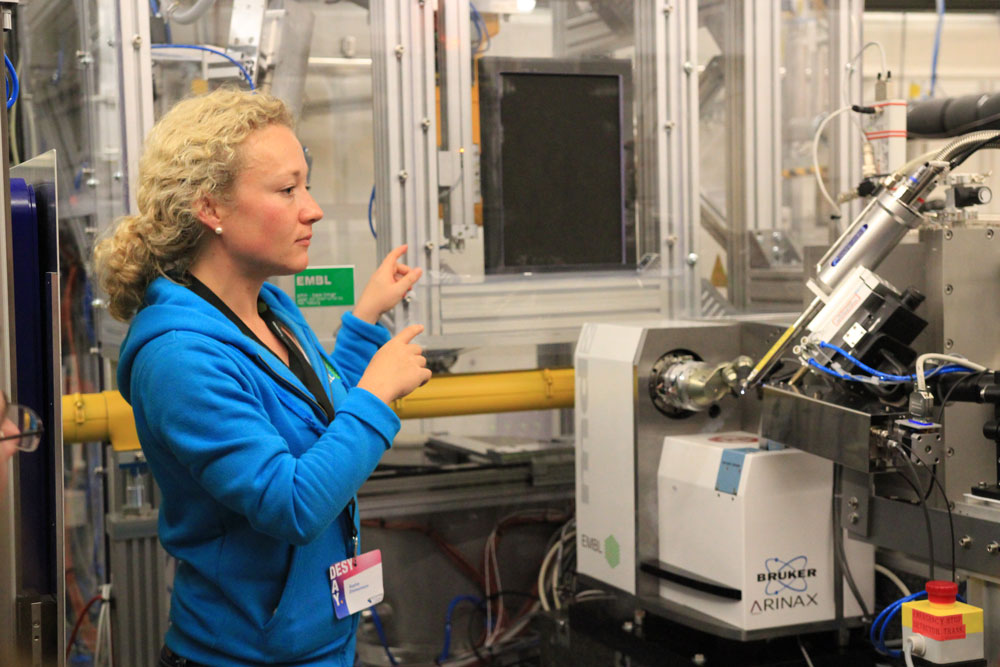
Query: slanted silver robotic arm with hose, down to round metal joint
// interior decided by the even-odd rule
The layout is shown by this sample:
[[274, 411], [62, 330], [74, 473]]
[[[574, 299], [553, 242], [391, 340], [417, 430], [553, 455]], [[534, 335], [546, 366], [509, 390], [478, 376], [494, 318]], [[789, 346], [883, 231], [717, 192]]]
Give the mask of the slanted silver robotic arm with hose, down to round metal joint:
[[764, 383], [789, 349], [804, 367], [834, 375], [838, 372], [829, 367], [838, 358], [855, 363], [865, 355], [895, 354], [901, 358], [897, 365], [909, 365], [912, 358], [906, 357], [912, 351], [907, 345], [926, 325], [913, 312], [923, 295], [900, 293], [872, 271], [923, 222], [919, 209], [924, 198], [982, 148], [1000, 148], [1000, 131], [967, 134], [886, 178], [877, 196], [817, 264], [816, 277], [807, 282], [816, 295], [812, 303], [749, 372], [752, 362], [746, 357], [717, 366], [690, 357], [661, 358], [650, 387], [660, 410], [705, 410], [727, 393], [743, 394]]

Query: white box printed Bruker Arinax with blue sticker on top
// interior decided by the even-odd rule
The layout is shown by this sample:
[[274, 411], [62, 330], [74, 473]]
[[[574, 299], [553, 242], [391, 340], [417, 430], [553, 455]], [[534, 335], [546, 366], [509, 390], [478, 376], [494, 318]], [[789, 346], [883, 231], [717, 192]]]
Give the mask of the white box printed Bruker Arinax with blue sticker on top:
[[[744, 630], [835, 618], [830, 461], [745, 432], [667, 436], [658, 486], [660, 566], [676, 577], [664, 599]], [[874, 547], [844, 547], [871, 608]], [[843, 591], [844, 615], [860, 615]]]

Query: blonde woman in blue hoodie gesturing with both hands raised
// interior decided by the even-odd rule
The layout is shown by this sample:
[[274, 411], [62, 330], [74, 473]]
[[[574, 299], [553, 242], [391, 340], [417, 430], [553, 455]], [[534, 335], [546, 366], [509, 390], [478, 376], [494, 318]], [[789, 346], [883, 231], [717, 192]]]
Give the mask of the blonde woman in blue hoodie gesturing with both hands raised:
[[178, 562], [161, 665], [352, 665], [357, 614], [338, 620], [327, 576], [399, 429], [388, 404], [430, 378], [422, 327], [376, 324], [420, 270], [391, 252], [323, 351], [265, 282], [306, 268], [323, 214], [273, 97], [179, 103], [139, 169], [139, 211], [95, 261], [111, 314], [135, 314], [118, 383]]

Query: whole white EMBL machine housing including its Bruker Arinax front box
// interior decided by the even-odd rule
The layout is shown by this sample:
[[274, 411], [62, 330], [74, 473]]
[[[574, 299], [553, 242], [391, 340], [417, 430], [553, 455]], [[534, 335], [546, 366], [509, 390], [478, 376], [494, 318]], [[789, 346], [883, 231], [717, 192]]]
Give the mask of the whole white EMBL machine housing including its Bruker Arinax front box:
[[[581, 577], [654, 613], [740, 641], [815, 623], [832, 627], [832, 464], [799, 450], [759, 450], [757, 436], [746, 432], [760, 419], [752, 398], [725, 398], [714, 413], [676, 419], [650, 396], [658, 377], [653, 368], [664, 355], [690, 351], [707, 363], [741, 353], [759, 358], [786, 327], [722, 320], [583, 326], [574, 359]], [[749, 452], [726, 454], [748, 446]], [[739, 459], [738, 474], [730, 470], [727, 477], [733, 493], [716, 489], [724, 456], [730, 467], [729, 459]], [[874, 550], [848, 538], [845, 549], [871, 604]], [[800, 569], [803, 576], [789, 576]], [[667, 570], [739, 591], [741, 599], [667, 581]], [[805, 581], [807, 590], [795, 591], [805, 595], [801, 602], [782, 602], [791, 593], [785, 587], [768, 595], [769, 572], [776, 574], [772, 582], [801, 588]], [[846, 585], [844, 591], [844, 616], [860, 615]]]

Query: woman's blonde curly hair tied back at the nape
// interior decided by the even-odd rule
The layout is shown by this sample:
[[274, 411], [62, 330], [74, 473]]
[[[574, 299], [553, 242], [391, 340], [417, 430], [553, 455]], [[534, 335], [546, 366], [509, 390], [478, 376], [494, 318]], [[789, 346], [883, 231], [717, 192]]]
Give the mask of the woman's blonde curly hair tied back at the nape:
[[206, 232], [199, 200], [228, 199], [243, 169], [243, 142], [270, 125], [292, 127], [284, 102], [232, 88], [183, 100], [156, 122], [139, 161], [138, 212], [94, 248], [113, 317], [135, 315], [157, 276], [184, 276]]

